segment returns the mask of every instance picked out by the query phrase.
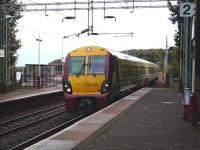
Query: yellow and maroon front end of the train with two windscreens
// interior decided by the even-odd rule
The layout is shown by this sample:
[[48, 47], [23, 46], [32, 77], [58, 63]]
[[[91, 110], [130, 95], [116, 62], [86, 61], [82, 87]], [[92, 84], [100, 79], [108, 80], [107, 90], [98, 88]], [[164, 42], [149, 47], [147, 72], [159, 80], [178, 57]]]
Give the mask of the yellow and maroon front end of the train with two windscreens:
[[[63, 90], [69, 111], [99, 110], [108, 105], [109, 55], [105, 49], [78, 49], [66, 58]], [[85, 51], [85, 53], [83, 53]]]

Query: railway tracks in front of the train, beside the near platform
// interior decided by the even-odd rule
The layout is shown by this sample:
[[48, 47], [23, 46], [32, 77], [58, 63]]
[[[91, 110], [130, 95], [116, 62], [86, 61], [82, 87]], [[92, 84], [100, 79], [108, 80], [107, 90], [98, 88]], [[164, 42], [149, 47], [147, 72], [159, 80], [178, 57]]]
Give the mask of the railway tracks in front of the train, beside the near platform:
[[0, 150], [23, 149], [83, 117], [67, 112], [63, 105], [0, 122]]

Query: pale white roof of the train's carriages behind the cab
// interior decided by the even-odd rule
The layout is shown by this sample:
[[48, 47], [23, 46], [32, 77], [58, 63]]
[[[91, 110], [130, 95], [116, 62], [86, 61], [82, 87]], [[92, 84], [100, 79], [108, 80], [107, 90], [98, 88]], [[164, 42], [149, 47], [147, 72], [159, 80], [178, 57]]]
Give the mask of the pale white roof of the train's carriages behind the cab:
[[111, 50], [111, 49], [108, 49], [108, 51], [112, 55], [116, 56], [119, 59], [124, 59], [124, 60], [129, 60], [129, 61], [135, 61], [135, 62], [141, 62], [141, 63], [145, 63], [145, 64], [157, 66], [157, 64], [155, 64], [155, 63], [152, 63], [150, 61], [147, 61], [147, 60], [135, 57], [135, 56], [130, 56], [130, 55], [124, 54], [122, 52], [114, 51], [114, 50]]

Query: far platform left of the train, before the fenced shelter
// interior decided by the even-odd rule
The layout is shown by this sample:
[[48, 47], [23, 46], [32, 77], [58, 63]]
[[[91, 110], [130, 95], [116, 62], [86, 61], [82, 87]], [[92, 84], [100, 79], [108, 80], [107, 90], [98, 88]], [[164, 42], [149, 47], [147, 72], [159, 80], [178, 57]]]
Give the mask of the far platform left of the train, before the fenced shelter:
[[21, 98], [27, 98], [42, 94], [54, 93], [62, 91], [62, 85], [44, 87], [44, 88], [33, 88], [33, 87], [22, 87], [16, 91], [0, 94], [0, 103], [5, 101], [17, 100]]

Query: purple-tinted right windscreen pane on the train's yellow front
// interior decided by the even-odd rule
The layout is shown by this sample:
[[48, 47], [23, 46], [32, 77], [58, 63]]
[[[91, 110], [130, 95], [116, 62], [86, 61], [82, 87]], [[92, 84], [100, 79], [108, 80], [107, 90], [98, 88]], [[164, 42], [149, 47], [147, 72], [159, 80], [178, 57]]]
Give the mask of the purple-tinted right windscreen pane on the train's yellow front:
[[105, 56], [90, 56], [89, 57], [89, 74], [103, 74], [105, 71]]

